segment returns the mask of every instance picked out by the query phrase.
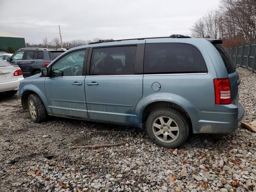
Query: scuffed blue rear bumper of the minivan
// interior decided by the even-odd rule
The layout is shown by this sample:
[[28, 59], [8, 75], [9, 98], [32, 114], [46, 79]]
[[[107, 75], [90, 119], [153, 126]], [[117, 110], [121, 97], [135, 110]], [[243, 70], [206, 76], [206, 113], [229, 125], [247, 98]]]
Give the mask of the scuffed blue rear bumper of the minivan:
[[216, 105], [213, 108], [185, 108], [192, 121], [193, 133], [234, 132], [244, 117], [244, 107], [237, 105]]

